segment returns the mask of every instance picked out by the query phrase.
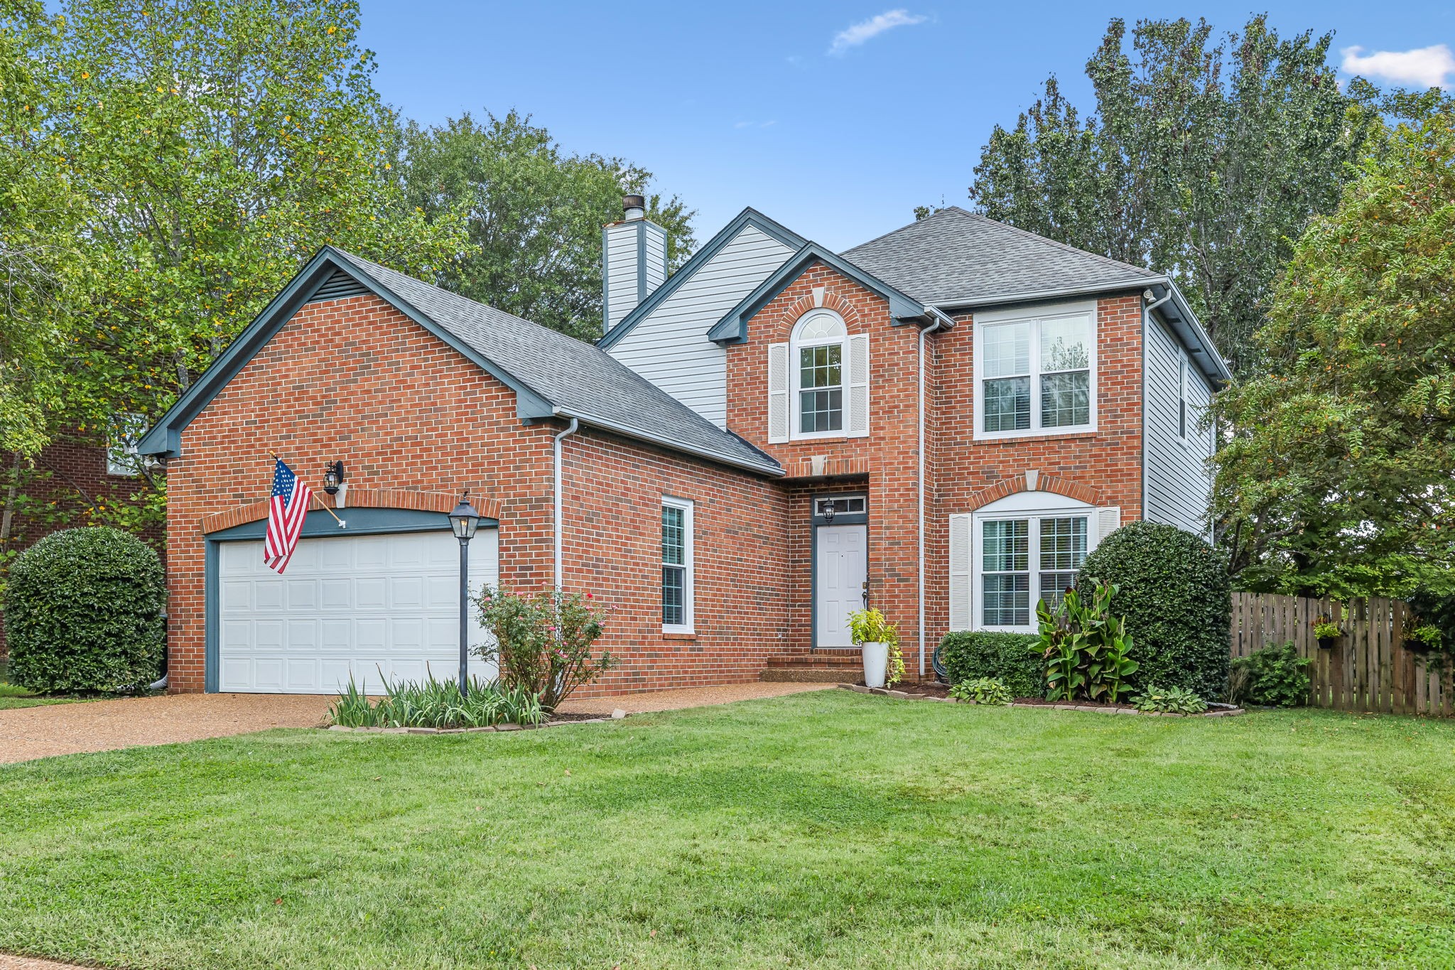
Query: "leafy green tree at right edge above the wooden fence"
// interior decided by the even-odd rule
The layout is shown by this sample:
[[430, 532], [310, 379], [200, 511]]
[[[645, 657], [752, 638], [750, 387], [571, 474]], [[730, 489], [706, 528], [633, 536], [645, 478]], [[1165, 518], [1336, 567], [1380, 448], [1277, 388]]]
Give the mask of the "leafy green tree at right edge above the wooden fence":
[[1215, 403], [1245, 588], [1455, 593], [1455, 103], [1416, 108], [1299, 239], [1257, 336], [1266, 369]]

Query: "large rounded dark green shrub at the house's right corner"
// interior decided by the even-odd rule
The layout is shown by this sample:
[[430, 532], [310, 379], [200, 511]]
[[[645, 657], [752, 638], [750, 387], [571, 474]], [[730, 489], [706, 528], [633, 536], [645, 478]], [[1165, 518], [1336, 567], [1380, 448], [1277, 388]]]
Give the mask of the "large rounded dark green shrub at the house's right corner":
[[1083, 596], [1116, 586], [1112, 612], [1126, 618], [1141, 669], [1133, 688], [1181, 686], [1219, 697], [1228, 682], [1232, 595], [1222, 558], [1173, 525], [1132, 522], [1101, 540], [1081, 567]]

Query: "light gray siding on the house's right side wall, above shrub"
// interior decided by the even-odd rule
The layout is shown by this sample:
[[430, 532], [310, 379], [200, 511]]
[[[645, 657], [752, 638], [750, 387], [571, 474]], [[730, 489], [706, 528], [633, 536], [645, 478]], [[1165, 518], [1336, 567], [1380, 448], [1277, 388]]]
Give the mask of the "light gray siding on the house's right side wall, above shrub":
[[1212, 430], [1202, 428], [1212, 400], [1212, 385], [1189, 361], [1187, 435], [1179, 435], [1179, 366], [1186, 352], [1155, 318], [1147, 333], [1147, 518], [1206, 535], [1211, 478], [1206, 458], [1212, 454]]

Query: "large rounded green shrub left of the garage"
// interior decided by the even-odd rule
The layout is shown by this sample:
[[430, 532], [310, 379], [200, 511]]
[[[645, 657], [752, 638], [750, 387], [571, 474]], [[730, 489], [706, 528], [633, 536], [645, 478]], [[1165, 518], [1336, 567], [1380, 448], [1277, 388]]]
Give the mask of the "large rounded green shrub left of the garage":
[[162, 560], [129, 532], [92, 526], [47, 535], [10, 566], [10, 679], [41, 692], [156, 681], [166, 589]]

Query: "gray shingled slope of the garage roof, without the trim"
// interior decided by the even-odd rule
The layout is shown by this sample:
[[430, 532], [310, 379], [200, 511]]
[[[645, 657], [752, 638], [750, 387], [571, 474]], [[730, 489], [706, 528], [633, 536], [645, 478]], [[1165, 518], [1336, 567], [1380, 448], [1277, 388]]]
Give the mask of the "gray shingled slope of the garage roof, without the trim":
[[333, 252], [567, 417], [733, 465], [768, 474], [783, 471], [770, 455], [717, 428], [591, 343], [359, 256]]

